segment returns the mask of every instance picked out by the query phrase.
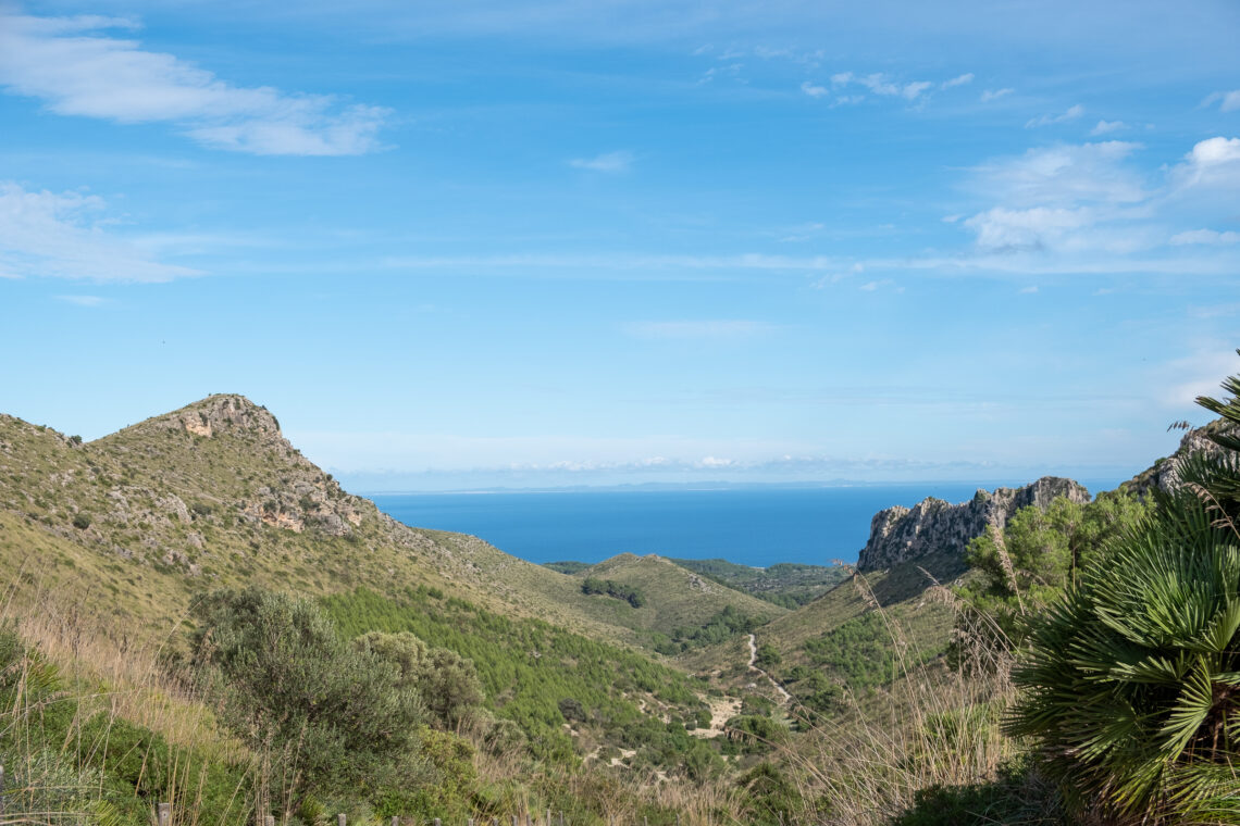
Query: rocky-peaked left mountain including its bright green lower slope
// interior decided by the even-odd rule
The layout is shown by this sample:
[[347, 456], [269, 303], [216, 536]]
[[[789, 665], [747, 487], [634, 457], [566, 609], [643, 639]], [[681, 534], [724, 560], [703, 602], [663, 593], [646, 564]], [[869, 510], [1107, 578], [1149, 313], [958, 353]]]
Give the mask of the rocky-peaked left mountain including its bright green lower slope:
[[[490, 705], [542, 754], [573, 753], [560, 700], [590, 715], [572, 736], [583, 748], [632, 743], [647, 716], [661, 729], [658, 717], [702, 708], [683, 672], [634, 649], [647, 617], [677, 608], [652, 603], [634, 619], [627, 606], [582, 593], [578, 578], [472, 536], [397, 523], [237, 395], [89, 443], [0, 416], [0, 568], [11, 572], [10, 611], [55, 603], [120, 648], [176, 648], [192, 601], [252, 585], [319, 601], [348, 634], [412, 630], [477, 658]], [[749, 599], [717, 591], [688, 589], [684, 617]]]

